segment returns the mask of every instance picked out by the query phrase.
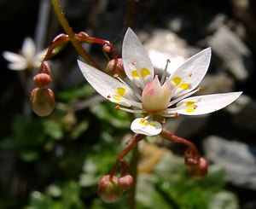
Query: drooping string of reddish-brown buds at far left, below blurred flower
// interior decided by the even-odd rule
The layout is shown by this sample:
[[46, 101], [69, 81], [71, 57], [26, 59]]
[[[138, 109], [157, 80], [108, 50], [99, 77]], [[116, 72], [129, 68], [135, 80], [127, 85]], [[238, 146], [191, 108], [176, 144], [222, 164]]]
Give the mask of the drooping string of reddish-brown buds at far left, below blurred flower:
[[47, 61], [43, 61], [38, 73], [33, 82], [38, 87], [33, 89], [30, 96], [30, 102], [34, 113], [41, 117], [52, 113], [55, 107], [55, 95], [52, 90], [47, 88], [52, 81], [50, 67]]

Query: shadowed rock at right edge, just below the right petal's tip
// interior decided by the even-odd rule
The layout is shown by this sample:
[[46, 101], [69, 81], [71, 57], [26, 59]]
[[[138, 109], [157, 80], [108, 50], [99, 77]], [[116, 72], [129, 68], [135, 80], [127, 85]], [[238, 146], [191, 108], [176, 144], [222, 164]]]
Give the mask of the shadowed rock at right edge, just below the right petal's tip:
[[242, 94], [236, 102], [226, 108], [232, 114], [237, 127], [256, 132], [256, 101]]

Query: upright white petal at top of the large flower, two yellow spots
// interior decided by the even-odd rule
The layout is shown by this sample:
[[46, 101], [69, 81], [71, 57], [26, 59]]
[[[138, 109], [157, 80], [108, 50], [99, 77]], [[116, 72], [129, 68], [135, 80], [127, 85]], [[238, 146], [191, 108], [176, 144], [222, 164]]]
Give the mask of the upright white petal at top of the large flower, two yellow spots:
[[143, 44], [131, 28], [125, 33], [122, 57], [127, 77], [143, 89], [154, 78], [154, 68]]

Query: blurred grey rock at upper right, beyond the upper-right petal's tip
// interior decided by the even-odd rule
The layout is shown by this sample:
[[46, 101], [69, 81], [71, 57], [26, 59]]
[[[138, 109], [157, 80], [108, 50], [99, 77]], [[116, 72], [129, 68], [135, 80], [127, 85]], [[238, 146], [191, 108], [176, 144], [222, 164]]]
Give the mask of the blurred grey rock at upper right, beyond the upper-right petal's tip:
[[209, 41], [212, 51], [218, 55], [233, 76], [244, 81], [252, 68], [252, 54], [236, 33], [227, 26], [221, 26]]

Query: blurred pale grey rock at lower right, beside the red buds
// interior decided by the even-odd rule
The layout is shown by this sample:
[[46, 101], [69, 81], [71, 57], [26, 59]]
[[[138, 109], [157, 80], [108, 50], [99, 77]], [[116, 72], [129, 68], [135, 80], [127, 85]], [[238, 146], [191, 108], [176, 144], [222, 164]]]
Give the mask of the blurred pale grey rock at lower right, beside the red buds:
[[208, 136], [203, 141], [208, 160], [222, 165], [231, 183], [246, 189], [256, 189], [256, 147], [242, 142]]

